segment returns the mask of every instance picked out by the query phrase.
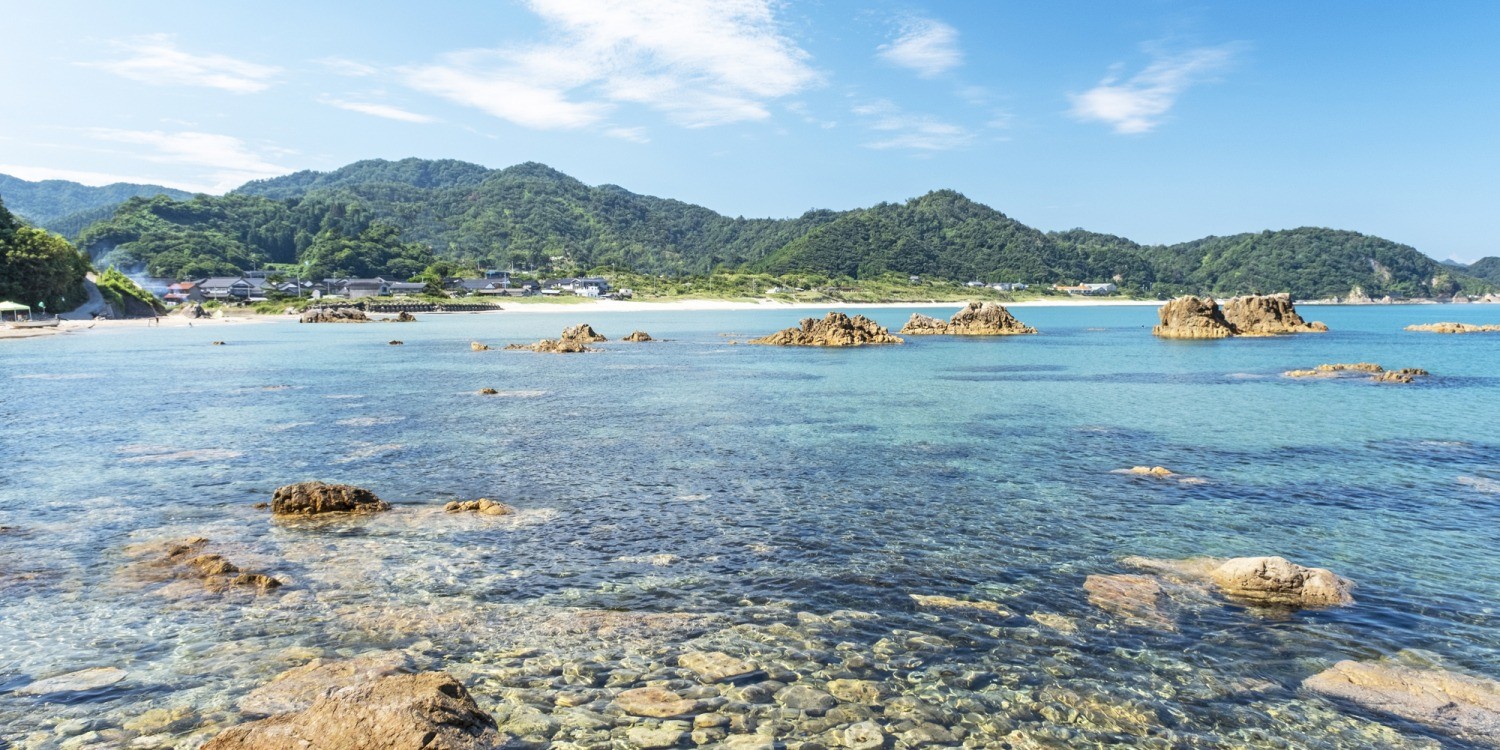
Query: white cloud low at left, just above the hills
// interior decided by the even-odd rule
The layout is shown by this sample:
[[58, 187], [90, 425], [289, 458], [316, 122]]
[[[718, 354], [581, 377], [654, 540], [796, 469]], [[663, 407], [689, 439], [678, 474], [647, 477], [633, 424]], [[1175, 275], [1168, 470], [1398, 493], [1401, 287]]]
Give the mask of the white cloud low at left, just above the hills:
[[[225, 192], [249, 180], [276, 177], [291, 171], [267, 162], [244, 141], [232, 135], [118, 130], [112, 128], [92, 128], [86, 132], [99, 141], [144, 146], [150, 150], [146, 153], [132, 152], [130, 156], [146, 162], [195, 168], [206, 182], [188, 188], [194, 190]], [[154, 178], [147, 182], [162, 183]]]

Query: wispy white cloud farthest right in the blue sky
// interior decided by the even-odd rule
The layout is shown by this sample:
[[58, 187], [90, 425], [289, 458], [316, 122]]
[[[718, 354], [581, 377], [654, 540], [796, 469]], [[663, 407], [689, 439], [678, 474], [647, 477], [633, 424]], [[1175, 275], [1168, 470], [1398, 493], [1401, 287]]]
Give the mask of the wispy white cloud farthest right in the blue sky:
[[1068, 94], [1078, 120], [1108, 123], [1118, 134], [1143, 134], [1161, 124], [1178, 96], [1228, 68], [1242, 45], [1203, 46], [1176, 56], [1154, 54], [1142, 72], [1120, 81], [1108, 75], [1082, 94]]

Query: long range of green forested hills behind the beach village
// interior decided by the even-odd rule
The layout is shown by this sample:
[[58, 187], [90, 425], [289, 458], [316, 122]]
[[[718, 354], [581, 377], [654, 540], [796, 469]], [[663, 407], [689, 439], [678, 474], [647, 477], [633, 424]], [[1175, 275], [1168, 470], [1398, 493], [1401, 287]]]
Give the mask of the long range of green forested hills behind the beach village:
[[952, 190], [849, 212], [744, 219], [588, 186], [540, 164], [364, 160], [256, 180], [225, 196], [135, 196], [81, 230], [100, 267], [154, 276], [297, 264], [308, 274], [410, 278], [434, 260], [546, 273], [716, 270], [986, 282], [1113, 280], [1146, 296], [1290, 291], [1440, 296], [1500, 284], [1378, 237], [1299, 228], [1143, 246], [1041, 232]]

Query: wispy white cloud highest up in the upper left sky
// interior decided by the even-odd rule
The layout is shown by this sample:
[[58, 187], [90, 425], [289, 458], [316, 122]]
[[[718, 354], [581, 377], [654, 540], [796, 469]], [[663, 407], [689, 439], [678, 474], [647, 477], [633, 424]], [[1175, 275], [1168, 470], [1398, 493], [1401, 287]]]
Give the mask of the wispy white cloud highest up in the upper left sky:
[[116, 46], [124, 57], [82, 64], [147, 84], [204, 86], [234, 93], [264, 92], [280, 74], [279, 68], [222, 54], [184, 52], [170, 34], [141, 36], [116, 42]]

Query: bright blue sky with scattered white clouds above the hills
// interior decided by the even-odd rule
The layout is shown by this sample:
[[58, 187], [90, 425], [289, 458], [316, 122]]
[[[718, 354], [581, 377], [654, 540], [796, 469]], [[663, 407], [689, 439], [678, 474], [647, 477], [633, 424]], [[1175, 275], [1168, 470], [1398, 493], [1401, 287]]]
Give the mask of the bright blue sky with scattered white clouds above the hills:
[[1500, 3], [9, 3], [0, 172], [536, 160], [795, 216], [952, 188], [1138, 242], [1500, 254]]

